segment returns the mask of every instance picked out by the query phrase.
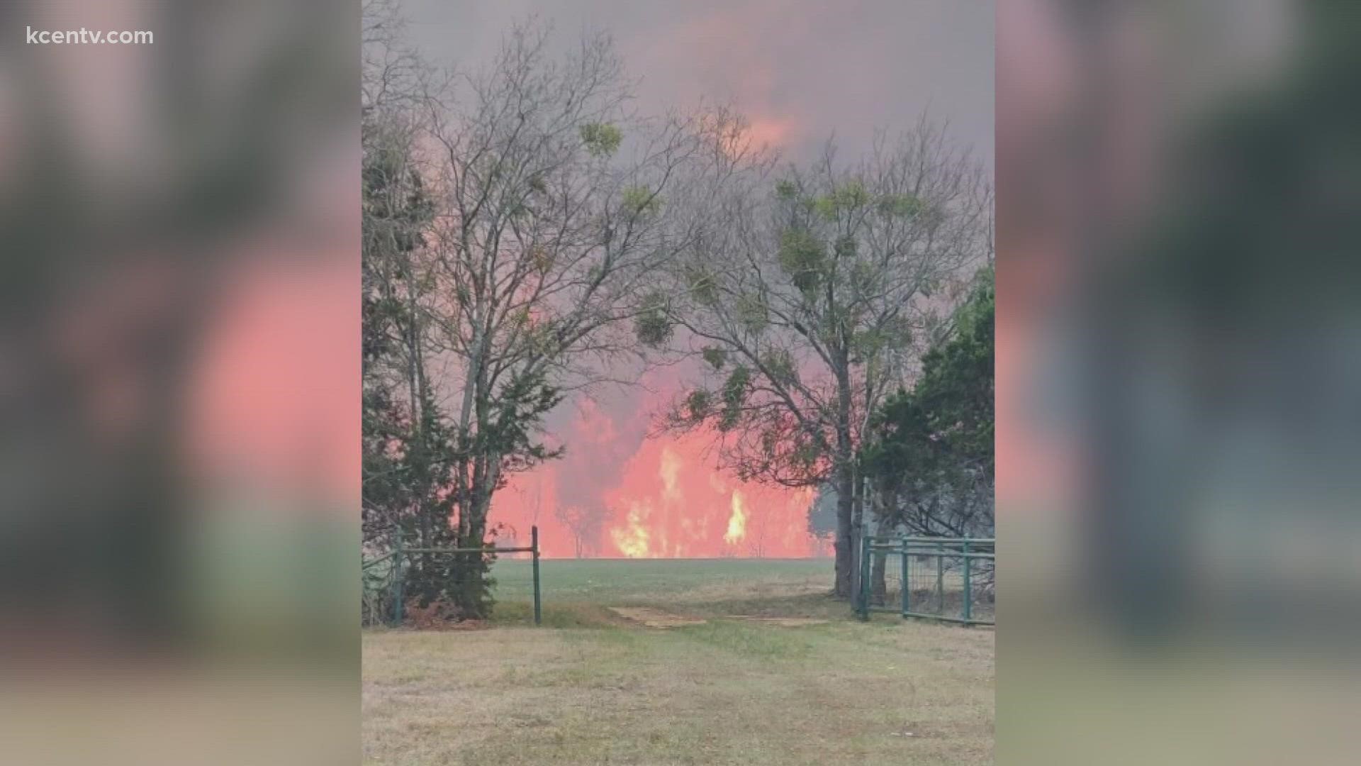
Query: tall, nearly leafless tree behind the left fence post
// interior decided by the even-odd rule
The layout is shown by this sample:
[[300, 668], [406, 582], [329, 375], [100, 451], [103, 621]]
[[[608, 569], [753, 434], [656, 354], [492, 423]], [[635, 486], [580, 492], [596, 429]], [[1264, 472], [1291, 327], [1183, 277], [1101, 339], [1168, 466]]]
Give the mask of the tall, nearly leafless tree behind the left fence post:
[[[426, 99], [436, 215], [421, 311], [431, 387], [453, 432], [457, 544], [487, 534], [508, 474], [559, 454], [543, 416], [577, 387], [641, 360], [632, 320], [655, 274], [689, 247], [674, 204], [723, 169], [709, 123], [642, 120], [604, 35], [562, 60], [548, 31], [513, 29], [493, 64]], [[485, 611], [485, 567], [456, 572], [464, 612]]]

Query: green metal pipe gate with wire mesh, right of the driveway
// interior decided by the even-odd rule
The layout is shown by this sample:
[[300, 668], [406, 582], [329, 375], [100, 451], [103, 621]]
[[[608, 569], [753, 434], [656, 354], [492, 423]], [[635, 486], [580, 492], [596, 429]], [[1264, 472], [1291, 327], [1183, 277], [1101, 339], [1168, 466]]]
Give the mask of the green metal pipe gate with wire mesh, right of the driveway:
[[856, 611], [996, 624], [994, 538], [866, 536]]

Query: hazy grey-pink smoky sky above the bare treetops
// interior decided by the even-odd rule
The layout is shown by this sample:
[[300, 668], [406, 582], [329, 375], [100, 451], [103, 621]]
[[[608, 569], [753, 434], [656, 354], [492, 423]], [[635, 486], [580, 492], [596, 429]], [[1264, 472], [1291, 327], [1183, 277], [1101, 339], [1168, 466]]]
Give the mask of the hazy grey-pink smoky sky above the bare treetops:
[[411, 35], [442, 64], [486, 63], [535, 14], [559, 45], [610, 31], [640, 106], [732, 102], [788, 155], [836, 132], [844, 153], [930, 108], [992, 164], [992, 0], [406, 0]]

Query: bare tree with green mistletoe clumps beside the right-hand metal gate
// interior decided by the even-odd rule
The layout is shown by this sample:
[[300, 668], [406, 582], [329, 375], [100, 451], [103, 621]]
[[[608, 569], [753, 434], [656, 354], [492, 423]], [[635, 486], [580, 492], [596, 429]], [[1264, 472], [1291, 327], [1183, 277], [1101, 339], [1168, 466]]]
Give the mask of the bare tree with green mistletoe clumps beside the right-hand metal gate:
[[842, 166], [829, 143], [774, 183], [750, 159], [668, 269], [668, 316], [704, 379], [667, 425], [715, 428], [743, 478], [837, 495], [836, 593], [849, 597], [866, 420], [902, 383], [951, 284], [987, 248], [983, 168], [925, 117]]

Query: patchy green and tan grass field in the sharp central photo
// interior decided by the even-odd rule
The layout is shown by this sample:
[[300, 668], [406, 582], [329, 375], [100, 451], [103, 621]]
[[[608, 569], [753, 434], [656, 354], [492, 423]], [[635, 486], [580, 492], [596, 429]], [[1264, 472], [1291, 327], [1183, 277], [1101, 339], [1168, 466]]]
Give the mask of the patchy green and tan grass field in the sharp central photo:
[[[859, 623], [826, 596], [829, 560], [542, 567], [542, 628], [528, 563], [506, 560], [491, 627], [365, 634], [366, 763], [992, 759], [992, 632]], [[610, 607], [704, 622], [653, 628]]]

